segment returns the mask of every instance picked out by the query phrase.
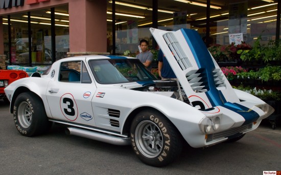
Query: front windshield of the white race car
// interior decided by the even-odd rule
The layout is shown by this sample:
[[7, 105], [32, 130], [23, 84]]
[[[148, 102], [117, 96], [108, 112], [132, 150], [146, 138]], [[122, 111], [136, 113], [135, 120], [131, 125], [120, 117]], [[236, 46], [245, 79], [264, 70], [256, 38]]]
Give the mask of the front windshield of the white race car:
[[89, 66], [99, 83], [156, 80], [137, 59], [90, 60]]

